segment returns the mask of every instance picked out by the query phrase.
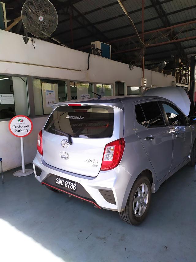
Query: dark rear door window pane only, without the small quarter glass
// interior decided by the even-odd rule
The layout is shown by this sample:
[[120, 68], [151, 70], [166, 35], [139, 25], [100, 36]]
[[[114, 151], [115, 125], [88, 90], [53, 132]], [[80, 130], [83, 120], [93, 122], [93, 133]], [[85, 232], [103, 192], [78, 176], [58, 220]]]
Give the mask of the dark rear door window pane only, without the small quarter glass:
[[157, 127], [165, 125], [157, 102], [144, 103], [141, 104], [141, 107], [143, 109], [148, 127]]

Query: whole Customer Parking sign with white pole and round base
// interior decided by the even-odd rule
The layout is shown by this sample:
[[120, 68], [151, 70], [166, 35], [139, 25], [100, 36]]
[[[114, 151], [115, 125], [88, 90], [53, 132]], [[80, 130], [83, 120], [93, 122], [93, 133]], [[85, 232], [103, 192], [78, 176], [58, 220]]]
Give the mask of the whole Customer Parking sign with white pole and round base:
[[9, 131], [12, 135], [20, 137], [21, 139], [21, 157], [22, 157], [22, 170], [18, 170], [13, 173], [15, 177], [23, 177], [32, 174], [32, 169], [25, 169], [25, 157], [24, 157], [24, 144], [23, 137], [29, 135], [32, 131], [33, 123], [25, 115], [16, 115], [9, 121]]

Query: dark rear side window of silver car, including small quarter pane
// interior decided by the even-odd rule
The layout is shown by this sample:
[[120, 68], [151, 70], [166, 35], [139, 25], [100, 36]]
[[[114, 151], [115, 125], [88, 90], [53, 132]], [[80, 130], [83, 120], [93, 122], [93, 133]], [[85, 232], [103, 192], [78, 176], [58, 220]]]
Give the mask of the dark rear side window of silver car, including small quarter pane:
[[136, 117], [138, 122], [146, 127], [158, 127], [165, 125], [161, 110], [157, 102], [148, 102], [137, 105]]

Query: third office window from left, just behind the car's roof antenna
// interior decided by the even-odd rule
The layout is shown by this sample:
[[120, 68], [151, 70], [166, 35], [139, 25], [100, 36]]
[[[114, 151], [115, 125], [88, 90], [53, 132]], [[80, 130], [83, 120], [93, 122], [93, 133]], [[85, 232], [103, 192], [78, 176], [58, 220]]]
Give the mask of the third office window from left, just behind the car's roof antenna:
[[70, 82], [71, 88], [71, 100], [92, 98], [93, 84], [90, 83], [80, 83], [80, 82]]

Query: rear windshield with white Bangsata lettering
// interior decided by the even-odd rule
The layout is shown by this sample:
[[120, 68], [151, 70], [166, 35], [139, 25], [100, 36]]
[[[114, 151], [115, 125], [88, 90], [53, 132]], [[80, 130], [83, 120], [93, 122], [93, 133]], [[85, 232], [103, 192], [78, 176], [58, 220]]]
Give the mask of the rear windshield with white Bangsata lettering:
[[107, 106], [59, 106], [55, 108], [44, 130], [56, 135], [73, 137], [111, 137], [114, 126], [114, 109]]

